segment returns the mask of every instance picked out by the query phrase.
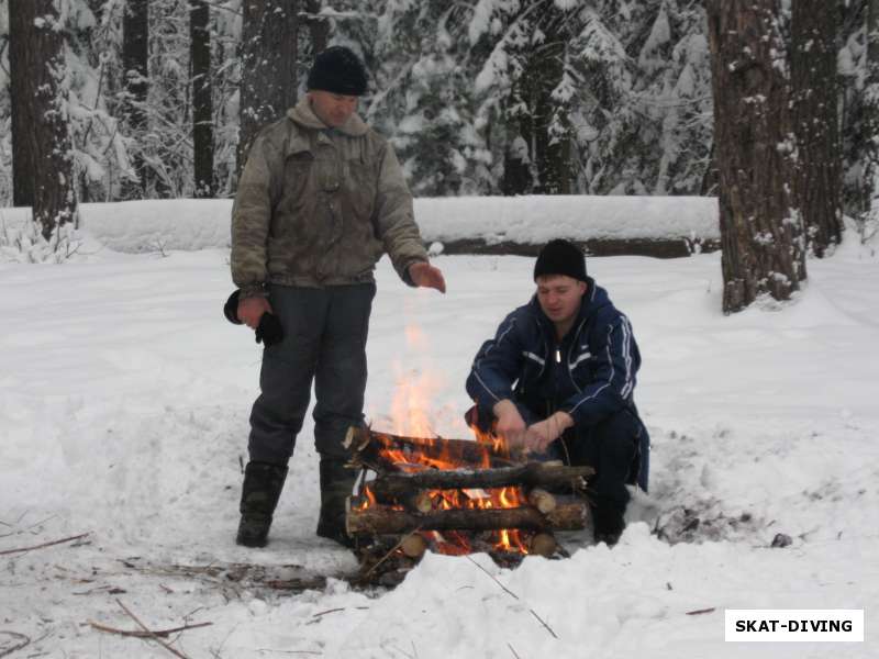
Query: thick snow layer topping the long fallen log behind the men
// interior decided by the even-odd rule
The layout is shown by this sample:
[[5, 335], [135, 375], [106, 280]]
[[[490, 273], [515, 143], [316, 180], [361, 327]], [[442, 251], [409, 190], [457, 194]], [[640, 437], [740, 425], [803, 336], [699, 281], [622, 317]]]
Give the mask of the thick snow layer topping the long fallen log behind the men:
[[[147, 200], [80, 205], [82, 228], [116, 252], [224, 248], [232, 200]], [[0, 231], [29, 209], [0, 211]], [[539, 245], [574, 241], [712, 241], [720, 236], [712, 197], [459, 197], [416, 199], [425, 242]]]

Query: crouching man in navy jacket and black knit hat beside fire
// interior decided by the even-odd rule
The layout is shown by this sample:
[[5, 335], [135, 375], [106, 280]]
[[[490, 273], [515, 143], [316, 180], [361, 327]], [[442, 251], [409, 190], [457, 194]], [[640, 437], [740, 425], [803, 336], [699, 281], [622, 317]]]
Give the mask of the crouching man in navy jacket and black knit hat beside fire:
[[468, 416], [511, 448], [594, 467], [596, 540], [612, 545], [625, 525], [626, 483], [647, 490], [649, 438], [632, 398], [638, 347], [628, 319], [587, 277], [574, 244], [548, 243], [534, 281], [531, 302], [508, 315], [476, 356]]

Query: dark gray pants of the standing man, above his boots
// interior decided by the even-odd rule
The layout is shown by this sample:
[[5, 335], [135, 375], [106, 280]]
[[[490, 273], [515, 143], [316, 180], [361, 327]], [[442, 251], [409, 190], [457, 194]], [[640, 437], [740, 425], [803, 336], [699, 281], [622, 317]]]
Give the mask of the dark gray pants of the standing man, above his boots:
[[311, 400], [314, 446], [344, 459], [348, 426], [363, 424], [366, 336], [375, 283], [323, 289], [270, 286], [283, 340], [263, 351], [262, 393], [251, 412], [251, 460], [287, 465]]

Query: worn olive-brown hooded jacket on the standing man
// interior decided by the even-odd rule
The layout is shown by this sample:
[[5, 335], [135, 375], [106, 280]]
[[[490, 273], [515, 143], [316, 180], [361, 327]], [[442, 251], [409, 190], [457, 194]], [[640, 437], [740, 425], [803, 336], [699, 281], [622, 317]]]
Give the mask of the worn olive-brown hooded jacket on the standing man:
[[370, 282], [383, 253], [410, 286], [409, 266], [427, 260], [393, 148], [356, 114], [327, 129], [303, 99], [251, 147], [232, 209], [232, 280], [244, 298], [267, 283]]

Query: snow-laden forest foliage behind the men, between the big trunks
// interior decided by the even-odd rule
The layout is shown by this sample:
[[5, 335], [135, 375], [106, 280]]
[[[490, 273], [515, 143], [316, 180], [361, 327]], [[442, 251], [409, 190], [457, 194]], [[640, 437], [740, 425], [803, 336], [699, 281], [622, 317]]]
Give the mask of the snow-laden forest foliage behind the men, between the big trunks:
[[[9, 2], [0, 1], [2, 205], [13, 202]], [[294, 97], [327, 44], [363, 55], [370, 85], [361, 114], [394, 144], [416, 196], [716, 193], [700, 1], [55, 4], [80, 202], [234, 194], [248, 56], [243, 14], [270, 16], [272, 4], [296, 5], [296, 38], [285, 44], [296, 63]], [[837, 2], [832, 24], [838, 85], [826, 92], [837, 96], [843, 202], [852, 216], [869, 205], [871, 145], [861, 136], [872, 4]], [[781, 3], [782, 23], [786, 12], [790, 2]], [[205, 87], [207, 143], [193, 138], [194, 125], [204, 124], [193, 107], [205, 107], [193, 97]], [[200, 158], [210, 163], [210, 178], [197, 183]]]

